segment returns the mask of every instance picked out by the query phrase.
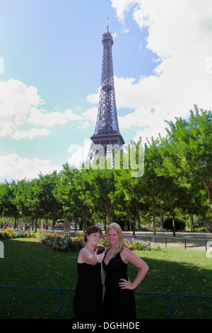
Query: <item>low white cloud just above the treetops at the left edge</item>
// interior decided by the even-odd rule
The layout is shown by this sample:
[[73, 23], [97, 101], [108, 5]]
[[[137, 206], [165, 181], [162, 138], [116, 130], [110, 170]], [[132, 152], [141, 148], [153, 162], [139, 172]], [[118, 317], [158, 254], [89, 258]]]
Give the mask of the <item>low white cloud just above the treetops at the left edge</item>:
[[12, 179], [33, 179], [40, 174], [52, 173], [54, 170], [60, 171], [61, 166], [52, 165], [49, 159], [28, 159], [19, 157], [18, 154], [7, 154], [0, 156], [0, 181], [11, 181]]

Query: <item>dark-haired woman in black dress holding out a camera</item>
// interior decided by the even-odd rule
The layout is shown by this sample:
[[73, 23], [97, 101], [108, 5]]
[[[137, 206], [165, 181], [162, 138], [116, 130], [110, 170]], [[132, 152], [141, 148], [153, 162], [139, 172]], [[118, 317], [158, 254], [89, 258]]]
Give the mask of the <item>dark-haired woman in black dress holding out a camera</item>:
[[73, 298], [74, 319], [102, 319], [101, 261], [104, 253], [98, 254], [98, 242], [102, 230], [90, 225], [86, 230], [86, 245], [78, 253], [78, 281]]

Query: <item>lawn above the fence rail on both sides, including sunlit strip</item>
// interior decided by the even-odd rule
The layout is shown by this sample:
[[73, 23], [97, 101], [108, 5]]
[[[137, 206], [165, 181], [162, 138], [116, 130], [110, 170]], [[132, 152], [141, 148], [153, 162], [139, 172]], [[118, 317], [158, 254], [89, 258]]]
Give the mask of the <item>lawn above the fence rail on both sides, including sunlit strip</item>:
[[[54, 251], [30, 238], [5, 239], [3, 242], [0, 285], [76, 287], [77, 254]], [[206, 252], [167, 248], [165, 252], [135, 253], [150, 267], [135, 292], [159, 294], [170, 290], [170, 293], [212, 296], [212, 259], [207, 258]], [[129, 264], [131, 281], [137, 272], [138, 269]]]

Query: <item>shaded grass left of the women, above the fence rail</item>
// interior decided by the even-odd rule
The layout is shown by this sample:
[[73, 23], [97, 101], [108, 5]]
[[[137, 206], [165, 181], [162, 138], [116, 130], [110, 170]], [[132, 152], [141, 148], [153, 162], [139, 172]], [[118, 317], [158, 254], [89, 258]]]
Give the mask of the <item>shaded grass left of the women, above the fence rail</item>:
[[76, 284], [76, 256], [58, 252], [33, 239], [5, 239], [0, 259], [0, 284], [72, 288]]

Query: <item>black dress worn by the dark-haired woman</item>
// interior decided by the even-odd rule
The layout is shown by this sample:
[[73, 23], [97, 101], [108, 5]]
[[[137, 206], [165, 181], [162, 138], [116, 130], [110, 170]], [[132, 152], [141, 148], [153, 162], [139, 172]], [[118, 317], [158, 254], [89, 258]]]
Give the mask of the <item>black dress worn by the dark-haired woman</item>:
[[101, 264], [78, 264], [78, 281], [73, 298], [74, 319], [102, 320]]

